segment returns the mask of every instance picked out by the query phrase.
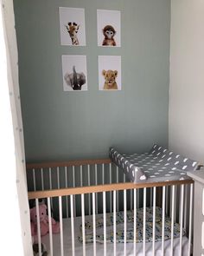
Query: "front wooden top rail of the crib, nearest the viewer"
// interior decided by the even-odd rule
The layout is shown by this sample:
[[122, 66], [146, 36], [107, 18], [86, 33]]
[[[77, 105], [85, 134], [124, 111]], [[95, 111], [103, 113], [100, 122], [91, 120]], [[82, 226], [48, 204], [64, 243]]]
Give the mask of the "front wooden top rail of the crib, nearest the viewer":
[[193, 180], [186, 181], [165, 181], [165, 182], [146, 182], [146, 183], [137, 183], [124, 182], [124, 183], [113, 183], [105, 185], [97, 185], [90, 187], [72, 187], [72, 188], [61, 188], [61, 189], [52, 189], [44, 191], [35, 191], [29, 192], [29, 199], [41, 199], [48, 197], [58, 197], [58, 196], [67, 196], [71, 194], [91, 194], [91, 193], [101, 193], [101, 192], [110, 192], [134, 188], [144, 188], [144, 187], [163, 187], [163, 186], [172, 186], [172, 185], [182, 185], [182, 184], [191, 184], [194, 183]]

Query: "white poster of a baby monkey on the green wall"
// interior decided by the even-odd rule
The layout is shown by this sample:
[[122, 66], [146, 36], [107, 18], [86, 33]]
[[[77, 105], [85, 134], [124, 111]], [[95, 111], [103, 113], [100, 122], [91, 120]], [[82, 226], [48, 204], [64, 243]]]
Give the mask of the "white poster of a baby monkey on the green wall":
[[120, 47], [120, 11], [97, 10], [98, 46]]

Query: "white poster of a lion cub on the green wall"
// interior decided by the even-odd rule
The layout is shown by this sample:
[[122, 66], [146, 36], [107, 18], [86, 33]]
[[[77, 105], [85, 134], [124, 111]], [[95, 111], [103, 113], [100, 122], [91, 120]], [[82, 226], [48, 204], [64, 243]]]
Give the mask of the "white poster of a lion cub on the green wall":
[[121, 56], [99, 56], [99, 90], [121, 90]]

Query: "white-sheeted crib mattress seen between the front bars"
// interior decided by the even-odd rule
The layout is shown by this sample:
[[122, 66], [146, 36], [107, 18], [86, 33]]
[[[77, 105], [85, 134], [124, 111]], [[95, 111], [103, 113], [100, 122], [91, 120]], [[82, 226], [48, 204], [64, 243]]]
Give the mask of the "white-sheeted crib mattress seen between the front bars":
[[[100, 214], [99, 214], [100, 215]], [[86, 221], [92, 220], [92, 216], [86, 216]], [[74, 237], [75, 237], [75, 255], [82, 256], [83, 255], [83, 246], [79, 241], [80, 236], [80, 225], [81, 225], [81, 217], [74, 218]], [[49, 236], [41, 237], [41, 242], [45, 243], [48, 249], [48, 253], [50, 252], [49, 249]], [[63, 244], [64, 244], [64, 255], [72, 255], [72, 238], [71, 238], [71, 220], [63, 219]], [[54, 256], [61, 256], [61, 235], [54, 234], [53, 235], [53, 247], [54, 247]], [[157, 241], [155, 243], [156, 248], [156, 256], [162, 255], [162, 242]], [[136, 244], [137, 249], [137, 256], [143, 256], [143, 243]], [[174, 256], [179, 255], [180, 249], [180, 240], [179, 238], [174, 239]], [[104, 255], [104, 245], [103, 244], [96, 244], [97, 255]], [[107, 243], [106, 244], [106, 255], [112, 256], [113, 255], [113, 244]], [[170, 240], [164, 241], [164, 250], [165, 256], [170, 255]], [[48, 254], [49, 255], [49, 254]], [[86, 255], [91, 256], [93, 255], [93, 244], [86, 244]], [[117, 255], [124, 256], [124, 244], [118, 243], [117, 244]], [[127, 243], [126, 244], [126, 255], [133, 256], [133, 244]], [[146, 256], [152, 255], [152, 243], [146, 243]], [[188, 255], [188, 238], [183, 236], [182, 237], [182, 255]]]

